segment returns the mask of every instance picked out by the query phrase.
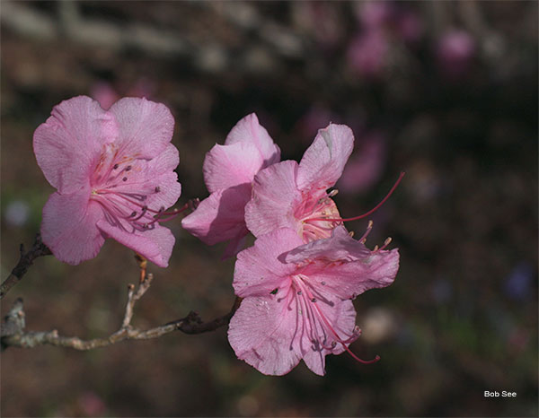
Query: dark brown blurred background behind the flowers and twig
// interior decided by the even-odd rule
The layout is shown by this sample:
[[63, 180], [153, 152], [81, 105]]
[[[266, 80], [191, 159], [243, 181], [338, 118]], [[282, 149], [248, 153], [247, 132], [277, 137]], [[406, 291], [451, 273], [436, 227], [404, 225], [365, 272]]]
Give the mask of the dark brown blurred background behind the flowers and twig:
[[[392, 286], [356, 300], [365, 359], [329, 356], [287, 376], [238, 361], [226, 330], [78, 353], [2, 353], [3, 416], [537, 416], [536, 2], [9, 2], [1, 6], [2, 279], [31, 246], [53, 188], [33, 131], [61, 100], [163, 102], [176, 120], [179, 205], [208, 192], [202, 161], [256, 112], [283, 159], [345, 123], [356, 148], [335, 197], [376, 205], [367, 245], [393, 237]], [[168, 225], [170, 267], [133, 324], [230, 309], [234, 260]], [[349, 222], [365, 230], [367, 220]], [[35, 262], [4, 298], [29, 330], [109, 335], [123, 316], [132, 252]], [[517, 392], [485, 398], [485, 390]]]

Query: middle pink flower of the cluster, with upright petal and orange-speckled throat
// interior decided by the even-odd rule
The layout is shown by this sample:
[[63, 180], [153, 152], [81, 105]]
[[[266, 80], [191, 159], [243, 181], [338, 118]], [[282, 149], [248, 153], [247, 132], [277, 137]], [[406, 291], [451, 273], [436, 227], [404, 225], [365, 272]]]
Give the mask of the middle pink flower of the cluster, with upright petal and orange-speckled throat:
[[247, 228], [255, 237], [289, 228], [305, 242], [328, 238], [340, 214], [326, 189], [340, 178], [353, 147], [351, 129], [330, 124], [318, 131], [299, 164], [282, 161], [261, 170], [245, 207]]

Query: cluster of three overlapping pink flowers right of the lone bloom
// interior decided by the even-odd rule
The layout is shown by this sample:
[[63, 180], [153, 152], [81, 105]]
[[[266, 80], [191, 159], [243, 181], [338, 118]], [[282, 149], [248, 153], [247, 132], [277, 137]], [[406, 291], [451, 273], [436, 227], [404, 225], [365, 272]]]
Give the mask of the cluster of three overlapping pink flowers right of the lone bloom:
[[[277, 145], [255, 115], [243, 118], [206, 157], [211, 195], [182, 226], [208, 244], [229, 241], [237, 255], [234, 291], [243, 298], [228, 338], [238, 358], [269, 375], [304, 360], [323, 375], [325, 356], [349, 352], [360, 333], [352, 301], [393, 283], [397, 249], [367, 249], [353, 239], [328, 193], [354, 146], [348, 126], [318, 132], [302, 160], [280, 161]], [[393, 187], [394, 188], [394, 187]], [[388, 242], [387, 242], [388, 243]], [[364, 361], [363, 361], [364, 362]]]

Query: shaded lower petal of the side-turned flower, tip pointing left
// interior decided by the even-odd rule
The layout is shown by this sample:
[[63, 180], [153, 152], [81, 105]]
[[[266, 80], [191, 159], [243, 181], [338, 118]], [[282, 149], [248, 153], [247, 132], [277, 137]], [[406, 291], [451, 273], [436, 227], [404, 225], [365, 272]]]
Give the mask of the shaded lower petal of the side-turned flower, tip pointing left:
[[249, 232], [243, 221], [243, 211], [250, 198], [250, 184], [219, 190], [200, 202], [195, 212], [183, 218], [181, 226], [208, 245], [242, 239]]

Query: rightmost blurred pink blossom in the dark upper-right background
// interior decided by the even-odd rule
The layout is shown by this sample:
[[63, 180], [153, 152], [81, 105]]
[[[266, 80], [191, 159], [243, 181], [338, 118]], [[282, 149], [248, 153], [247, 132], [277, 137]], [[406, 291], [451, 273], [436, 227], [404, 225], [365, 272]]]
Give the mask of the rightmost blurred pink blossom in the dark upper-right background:
[[475, 41], [465, 30], [448, 31], [437, 41], [436, 56], [443, 74], [460, 77], [472, 64]]

